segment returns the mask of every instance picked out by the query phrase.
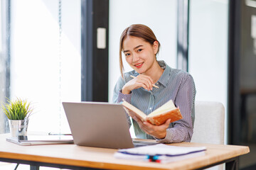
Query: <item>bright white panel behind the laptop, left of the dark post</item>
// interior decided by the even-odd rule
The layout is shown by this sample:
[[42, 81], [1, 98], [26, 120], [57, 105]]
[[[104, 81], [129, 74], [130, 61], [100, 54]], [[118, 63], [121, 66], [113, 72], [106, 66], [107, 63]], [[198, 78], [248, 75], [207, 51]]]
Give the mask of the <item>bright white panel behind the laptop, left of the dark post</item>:
[[[33, 103], [28, 131], [69, 132], [61, 101], [80, 101], [80, 1], [11, 1], [11, 98]], [[60, 71], [61, 68], [61, 71]]]

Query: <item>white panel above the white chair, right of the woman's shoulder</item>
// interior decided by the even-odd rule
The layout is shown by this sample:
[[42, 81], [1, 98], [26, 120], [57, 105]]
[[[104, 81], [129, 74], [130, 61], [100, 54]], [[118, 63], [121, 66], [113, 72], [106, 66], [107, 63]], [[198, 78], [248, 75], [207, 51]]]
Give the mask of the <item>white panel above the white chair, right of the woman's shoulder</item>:
[[219, 101], [225, 107], [227, 139], [228, 0], [192, 0], [189, 25], [189, 72], [196, 101]]

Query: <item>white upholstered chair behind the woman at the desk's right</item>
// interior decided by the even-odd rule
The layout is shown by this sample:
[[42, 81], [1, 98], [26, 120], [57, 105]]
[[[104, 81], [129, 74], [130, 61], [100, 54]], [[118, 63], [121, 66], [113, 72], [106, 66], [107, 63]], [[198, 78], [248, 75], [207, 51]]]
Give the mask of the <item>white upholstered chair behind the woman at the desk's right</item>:
[[[225, 108], [214, 101], [196, 101], [191, 142], [224, 144]], [[223, 169], [223, 164], [210, 169]]]

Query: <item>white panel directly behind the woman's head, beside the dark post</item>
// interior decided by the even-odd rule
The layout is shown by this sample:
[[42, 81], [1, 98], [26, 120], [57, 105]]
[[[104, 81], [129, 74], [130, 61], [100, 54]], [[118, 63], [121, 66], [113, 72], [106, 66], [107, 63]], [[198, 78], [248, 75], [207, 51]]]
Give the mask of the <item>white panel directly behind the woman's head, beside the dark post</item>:
[[[119, 72], [119, 38], [134, 23], [149, 26], [161, 43], [158, 60], [176, 68], [176, 0], [110, 0], [109, 101]], [[124, 62], [125, 72], [131, 70]]]

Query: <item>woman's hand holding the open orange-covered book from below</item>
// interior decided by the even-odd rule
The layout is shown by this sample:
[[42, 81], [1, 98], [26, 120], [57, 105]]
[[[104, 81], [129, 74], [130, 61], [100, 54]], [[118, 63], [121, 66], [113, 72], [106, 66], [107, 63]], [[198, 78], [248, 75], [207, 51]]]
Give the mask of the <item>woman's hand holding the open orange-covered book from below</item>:
[[171, 122], [171, 119], [168, 119], [164, 124], [157, 126], [152, 125], [148, 122], [142, 122], [142, 120], [140, 120], [136, 116], [134, 116], [133, 118], [139, 124], [139, 128], [146, 132], [146, 134], [154, 136], [158, 139], [164, 139], [166, 137], [166, 129], [169, 128], [169, 124]]

